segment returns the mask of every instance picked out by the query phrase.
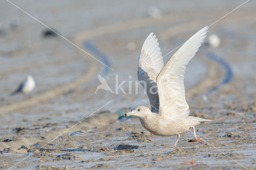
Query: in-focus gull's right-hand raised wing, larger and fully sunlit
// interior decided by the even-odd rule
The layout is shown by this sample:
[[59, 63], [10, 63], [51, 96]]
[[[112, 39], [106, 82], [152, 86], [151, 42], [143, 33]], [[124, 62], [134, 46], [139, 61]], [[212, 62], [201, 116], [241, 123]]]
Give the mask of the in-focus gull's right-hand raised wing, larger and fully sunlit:
[[159, 93], [160, 115], [169, 116], [173, 119], [189, 115], [189, 107], [185, 99], [184, 73], [186, 65], [204, 41], [207, 30], [208, 26], [188, 39], [159, 73], [156, 83]]

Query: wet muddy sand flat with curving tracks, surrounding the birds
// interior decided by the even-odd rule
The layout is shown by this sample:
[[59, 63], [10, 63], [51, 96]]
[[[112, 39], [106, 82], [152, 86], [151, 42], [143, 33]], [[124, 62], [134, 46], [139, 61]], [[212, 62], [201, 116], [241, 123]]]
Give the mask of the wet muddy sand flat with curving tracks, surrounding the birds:
[[[46, 26], [0, 2], [0, 169], [256, 169], [255, 2], [224, 18], [245, 1], [11, 2], [61, 36], [44, 37]], [[121, 117], [148, 106], [135, 83], [140, 49], [154, 32], [165, 55], [204, 26], [220, 46], [200, 47], [184, 84], [190, 115], [215, 122], [196, 126], [204, 144], [190, 129], [168, 148], [176, 136]], [[98, 74], [114, 93], [95, 93]], [[27, 75], [30, 97], [10, 96]]]

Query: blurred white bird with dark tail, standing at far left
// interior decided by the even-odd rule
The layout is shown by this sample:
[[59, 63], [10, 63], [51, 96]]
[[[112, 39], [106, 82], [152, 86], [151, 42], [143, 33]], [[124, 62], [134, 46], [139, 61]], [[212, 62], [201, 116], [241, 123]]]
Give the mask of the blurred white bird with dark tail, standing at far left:
[[16, 89], [16, 91], [14, 91], [11, 95], [15, 95], [16, 93], [21, 92], [25, 96], [27, 96], [31, 91], [34, 90], [35, 85], [36, 83], [33, 77], [31, 75], [28, 75], [26, 79], [24, 79], [22, 83], [20, 83], [20, 86], [18, 87], [18, 89]]

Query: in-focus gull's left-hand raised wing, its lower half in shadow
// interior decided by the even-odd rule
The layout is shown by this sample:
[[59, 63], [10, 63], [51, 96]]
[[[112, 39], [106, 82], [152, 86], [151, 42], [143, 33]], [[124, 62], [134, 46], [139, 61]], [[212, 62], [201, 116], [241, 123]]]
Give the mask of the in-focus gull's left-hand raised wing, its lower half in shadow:
[[[156, 77], [164, 67], [164, 61], [156, 36], [151, 33], [146, 38], [138, 61], [138, 80], [147, 92], [152, 112], [158, 112], [159, 98]], [[153, 106], [153, 107], [152, 107]]]

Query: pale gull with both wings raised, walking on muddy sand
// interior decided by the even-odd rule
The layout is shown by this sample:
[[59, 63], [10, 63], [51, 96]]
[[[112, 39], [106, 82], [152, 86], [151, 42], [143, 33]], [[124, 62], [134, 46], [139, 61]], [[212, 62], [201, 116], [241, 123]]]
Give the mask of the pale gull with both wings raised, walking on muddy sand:
[[185, 99], [184, 73], [186, 65], [201, 46], [208, 26], [202, 28], [188, 39], [164, 65], [158, 39], [151, 33], [146, 38], [138, 60], [138, 80], [150, 101], [151, 110], [145, 106], [135, 107], [125, 116], [136, 116], [141, 125], [157, 136], [178, 135], [173, 146], [176, 147], [180, 133], [192, 128], [196, 141], [195, 127], [201, 122], [211, 120], [189, 116]]

